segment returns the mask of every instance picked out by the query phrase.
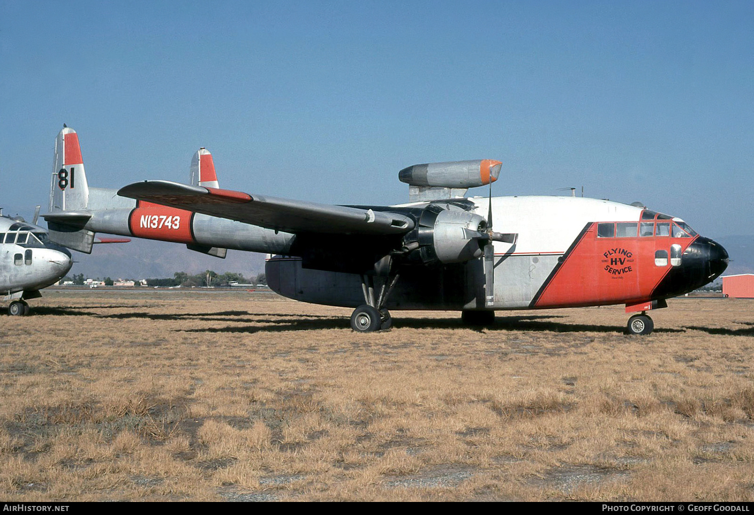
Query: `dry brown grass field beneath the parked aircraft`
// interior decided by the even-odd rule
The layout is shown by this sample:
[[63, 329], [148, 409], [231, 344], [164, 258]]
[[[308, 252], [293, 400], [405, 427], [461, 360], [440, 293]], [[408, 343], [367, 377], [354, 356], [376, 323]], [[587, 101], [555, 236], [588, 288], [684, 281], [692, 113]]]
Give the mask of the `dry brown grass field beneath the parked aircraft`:
[[0, 317], [6, 501], [752, 501], [754, 301], [394, 312], [50, 291]]

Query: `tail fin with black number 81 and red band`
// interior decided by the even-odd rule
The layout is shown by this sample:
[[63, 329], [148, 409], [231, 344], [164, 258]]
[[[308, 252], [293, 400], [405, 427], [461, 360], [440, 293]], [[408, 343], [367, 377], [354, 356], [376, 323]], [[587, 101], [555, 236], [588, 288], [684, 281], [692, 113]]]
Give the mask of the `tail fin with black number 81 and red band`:
[[55, 139], [55, 163], [50, 185], [50, 212], [81, 211], [89, 203], [89, 185], [78, 134], [70, 127]]

